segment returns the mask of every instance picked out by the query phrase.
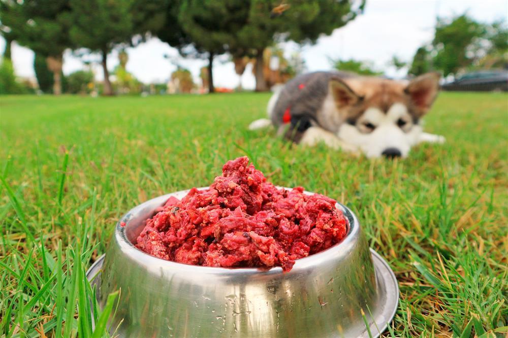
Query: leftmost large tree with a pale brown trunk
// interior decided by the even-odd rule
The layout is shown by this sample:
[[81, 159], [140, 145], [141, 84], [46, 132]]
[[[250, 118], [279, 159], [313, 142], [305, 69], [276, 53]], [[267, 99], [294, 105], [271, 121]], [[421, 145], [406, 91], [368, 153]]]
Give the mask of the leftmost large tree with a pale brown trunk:
[[53, 73], [53, 93], [60, 94], [62, 55], [73, 47], [69, 36], [72, 23], [69, 0], [2, 1], [0, 10], [3, 24], [12, 30], [9, 39], [16, 39], [46, 58]]

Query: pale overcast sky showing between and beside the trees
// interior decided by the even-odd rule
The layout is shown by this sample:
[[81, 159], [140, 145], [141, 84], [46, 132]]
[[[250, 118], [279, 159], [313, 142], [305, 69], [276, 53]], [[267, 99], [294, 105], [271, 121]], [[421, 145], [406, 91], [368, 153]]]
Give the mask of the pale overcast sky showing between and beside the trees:
[[[282, 45], [285, 54], [290, 56], [299, 51], [305, 60], [308, 71], [330, 69], [329, 58], [370, 61], [380, 70], [387, 69], [387, 63], [393, 55], [403, 60], [410, 60], [418, 47], [432, 40], [436, 16], [450, 17], [465, 11], [482, 22], [506, 20], [508, 0], [370, 0], [365, 12], [346, 26], [336, 29], [331, 36], [320, 38], [315, 45], [299, 46], [295, 43]], [[5, 49], [5, 40], [0, 40], [0, 50]], [[151, 39], [136, 48], [127, 49], [129, 62], [127, 70], [145, 83], [165, 82], [176, 64], [188, 68], [196, 80], [199, 70], [207, 61], [184, 59], [178, 56], [176, 49], [169, 47], [158, 39]], [[169, 55], [170, 58], [165, 58]], [[34, 53], [16, 44], [12, 48], [12, 59], [15, 72], [20, 77], [34, 77]], [[99, 60], [99, 57], [95, 57]], [[239, 77], [234, 71], [232, 62], [227, 56], [219, 57], [214, 62], [213, 79], [216, 86], [236, 87]], [[108, 56], [110, 70], [118, 64], [117, 52]], [[68, 51], [64, 55], [63, 73], [69, 74], [83, 68], [79, 57]], [[94, 66], [96, 78], [101, 80], [102, 69]], [[402, 76], [388, 68], [390, 76]], [[255, 86], [250, 67], [242, 78], [246, 89]]]

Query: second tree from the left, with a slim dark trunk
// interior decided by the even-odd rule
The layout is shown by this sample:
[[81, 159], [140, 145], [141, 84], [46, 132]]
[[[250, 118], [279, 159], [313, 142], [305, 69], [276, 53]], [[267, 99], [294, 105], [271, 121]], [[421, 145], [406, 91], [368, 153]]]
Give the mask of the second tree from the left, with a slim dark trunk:
[[77, 46], [99, 52], [104, 72], [104, 94], [112, 95], [107, 57], [118, 44], [132, 37], [133, 0], [70, 0], [73, 10], [71, 39]]

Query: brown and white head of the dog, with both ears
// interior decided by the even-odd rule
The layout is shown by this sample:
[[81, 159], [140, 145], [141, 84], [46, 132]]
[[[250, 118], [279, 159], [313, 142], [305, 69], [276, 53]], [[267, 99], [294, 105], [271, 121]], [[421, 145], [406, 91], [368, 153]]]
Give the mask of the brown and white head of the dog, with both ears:
[[439, 77], [427, 73], [409, 83], [333, 78], [329, 90], [344, 121], [339, 138], [367, 157], [406, 157], [419, 141], [421, 118], [437, 96]]

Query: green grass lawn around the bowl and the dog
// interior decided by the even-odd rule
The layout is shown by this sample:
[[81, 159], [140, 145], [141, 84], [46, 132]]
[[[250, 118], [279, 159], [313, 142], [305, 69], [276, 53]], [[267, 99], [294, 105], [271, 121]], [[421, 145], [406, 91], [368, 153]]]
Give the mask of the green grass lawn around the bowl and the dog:
[[[84, 272], [116, 220], [149, 198], [210, 184], [240, 155], [277, 185], [303, 185], [357, 213], [400, 285], [385, 334], [504, 335], [506, 94], [442, 93], [426, 129], [447, 143], [394, 161], [246, 130], [268, 98], [0, 97], [0, 336], [92, 334]], [[96, 336], [115, 296], [93, 312]]]

